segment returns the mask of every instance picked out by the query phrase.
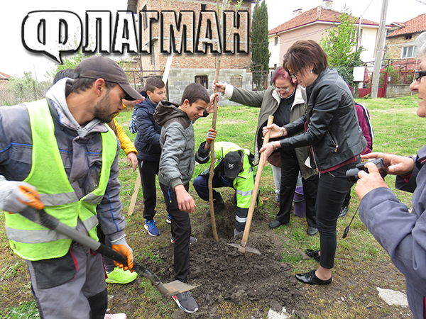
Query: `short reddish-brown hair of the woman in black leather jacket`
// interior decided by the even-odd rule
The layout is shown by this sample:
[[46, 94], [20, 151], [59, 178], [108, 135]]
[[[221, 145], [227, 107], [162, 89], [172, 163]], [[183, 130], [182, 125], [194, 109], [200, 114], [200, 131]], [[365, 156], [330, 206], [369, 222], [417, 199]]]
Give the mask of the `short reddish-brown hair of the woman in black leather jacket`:
[[283, 67], [289, 74], [312, 65], [312, 72], [320, 74], [328, 67], [327, 55], [314, 40], [298, 40], [284, 55]]

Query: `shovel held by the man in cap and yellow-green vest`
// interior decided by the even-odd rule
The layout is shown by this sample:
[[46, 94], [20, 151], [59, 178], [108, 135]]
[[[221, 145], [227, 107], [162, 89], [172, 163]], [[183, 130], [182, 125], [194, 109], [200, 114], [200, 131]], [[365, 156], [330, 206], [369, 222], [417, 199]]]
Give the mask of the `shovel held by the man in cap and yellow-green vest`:
[[[101, 242], [98, 242], [97, 240], [80, 233], [79, 231], [65, 225], [64, 223], [61, 223], [58, 218], [49, 215], [43, 209], [39, 210], [28, 207], [21, 211], [20, 214], [34, 223], [37, 223], [38, 225], [41, 225], [50, 230], [55, 230], [56, 232], [61, 233], [62, 235], [71, 238], [72, 240], [75, 240], [75, 242], [89, 247], [94, 252], [99, 252], [99, 254], [103, 254], [105, 257], [109, 257], [116, 262], [119, 262], [120, 264], [127, 264], [127, 258], [119, 252], [112, 250], [110, 247], [107, 247]], [[150, 269], [134, 261], [133, 269], [136, 270], [138, 274], [148, 278], [151, 281], [151, 284], [153, 284], [154, 288], [160, 291], [163, 296], [175, 296], [179, 293], [189, 291], [197, 287], [184, 284], [179, 280], [172, 281], [169, 284], [162, 284], [160, 279], [158, 279], [158, 276]]]

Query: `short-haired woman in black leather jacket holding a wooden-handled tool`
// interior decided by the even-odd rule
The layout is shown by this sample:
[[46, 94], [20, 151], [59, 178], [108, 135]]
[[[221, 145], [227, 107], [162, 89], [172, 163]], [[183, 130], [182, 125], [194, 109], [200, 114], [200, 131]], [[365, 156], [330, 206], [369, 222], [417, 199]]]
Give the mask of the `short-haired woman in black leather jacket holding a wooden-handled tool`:
[[[360, 162], [359, 154], [367, 145], [359, 127], [354, 99], [348, 85], [335, 69], [329, 69], [327, 55], [313, 40], [299, 40], [284, 56], [284, 67], [306, 88], [307, 112], [287, 125], [270, 125], [271, 137], [282, 138], [261, 148], [267, 158], [273, 150], [291, 150], [310, 145], [320, 181], [317, 190], [317, 225], [320, 250], [307, 255], [320, 261], [317, 270], [296, 274], [305, 284], [327, 285], [337, 246], [337, 218], [352, 183], [346, 171]], [[295, 135], [300, 133], [300, 135]]]

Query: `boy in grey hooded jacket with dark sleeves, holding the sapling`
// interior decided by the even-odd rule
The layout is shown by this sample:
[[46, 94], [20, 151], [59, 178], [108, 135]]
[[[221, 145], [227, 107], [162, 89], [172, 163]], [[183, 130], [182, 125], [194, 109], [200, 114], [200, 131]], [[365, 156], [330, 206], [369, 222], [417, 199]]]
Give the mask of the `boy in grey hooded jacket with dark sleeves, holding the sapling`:
[[[191, 221], [188, 213], [195, 212], [195, 201], [188, 193], [195, 165], [195, 139], [192, 122], [212, 113], [212, 101], [201, 84], [189, 84], [183, 91], [180, 105], [168, 101], [158, 103], [155, 123], [162, 126], [160, 169], [158, 181], [163, 191], [168, 213], [172, 216], [172, 233], [175, 236], [175, 279], [187, 281], [190, 272]], [[172, 296], [186, 313], [194, 313], [198, 305], [189, 291]]]

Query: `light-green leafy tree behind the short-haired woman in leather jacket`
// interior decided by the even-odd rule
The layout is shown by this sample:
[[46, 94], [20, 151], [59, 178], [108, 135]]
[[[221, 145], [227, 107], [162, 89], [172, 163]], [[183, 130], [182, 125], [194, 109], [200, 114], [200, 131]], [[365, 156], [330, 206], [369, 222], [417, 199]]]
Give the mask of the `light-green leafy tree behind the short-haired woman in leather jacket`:
[[361, 61], [361, 52], [364, 49], [359, 47], [356, 50], [355, 18], [342, 13], [339, 16], [339, 24], [334, 24], [334, 27], [326, 32], [328, 34], [322, 38], [320, 45], [327, 54], [329, 66], [337, 69], [347, 84], [354, 86], [354, 67], [364, 64]]

